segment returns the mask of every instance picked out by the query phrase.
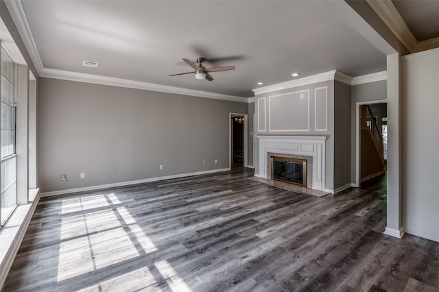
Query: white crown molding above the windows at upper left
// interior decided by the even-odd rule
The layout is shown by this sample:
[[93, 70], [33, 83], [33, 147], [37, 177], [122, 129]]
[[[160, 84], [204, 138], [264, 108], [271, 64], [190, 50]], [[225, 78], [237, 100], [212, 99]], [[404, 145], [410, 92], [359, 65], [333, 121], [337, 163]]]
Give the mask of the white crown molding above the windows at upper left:
[[27, 49], [27, 53], [29, 53], [32, 62], [34, 62], [34, 66], [38, 71], [44, 68], [43, 62], [41, 61], [40, 54], [38, 53], [38, 49], [36, 48], [36, 43], [34, 41], [34, 37], [32, 36], [32, 31], [29, 27], [29, 23], [27, 22], [25, 10], [23, 9], [23, 5], [21, 1], [16, 0], [5, 0], [6, 8], [8, 8], [9, 13], [11, 14], [12, 21], [18, 29], [19, 34], [25, 44]]

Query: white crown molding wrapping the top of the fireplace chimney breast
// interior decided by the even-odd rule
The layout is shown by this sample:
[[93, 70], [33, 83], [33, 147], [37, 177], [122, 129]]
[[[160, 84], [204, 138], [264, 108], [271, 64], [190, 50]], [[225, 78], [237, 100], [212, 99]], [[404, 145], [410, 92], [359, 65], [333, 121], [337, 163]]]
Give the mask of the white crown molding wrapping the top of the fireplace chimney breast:
[[254, 88], [252, 89], [252, 91], [254, 92], [255, 95], [262, 95], [264, 93], [272, 93], [277, 90], [289, 89], [289, 88], [294, 88], [298, 86], [304, 86], [304, 85], [309, 85], [309, 84], [314, 84], [314, 83], [324, 82], [329, 80], [337, 80], [351, 85], [352, 77], [344, 73], [341, 73], [337, 70], [333, 70], [316, 75], [298, 78], [296, 80], [289, 80], [278, 84], [272, 84], [269, 86]]

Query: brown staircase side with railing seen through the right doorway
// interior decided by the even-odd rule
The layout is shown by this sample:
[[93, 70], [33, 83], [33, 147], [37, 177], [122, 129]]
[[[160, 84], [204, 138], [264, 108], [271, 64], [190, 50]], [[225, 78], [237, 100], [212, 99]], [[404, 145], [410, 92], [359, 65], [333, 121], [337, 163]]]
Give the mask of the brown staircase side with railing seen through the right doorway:
[[361, 182], [385, 172], [383, 136], [375, 122], [370, 106], [360, 107]]

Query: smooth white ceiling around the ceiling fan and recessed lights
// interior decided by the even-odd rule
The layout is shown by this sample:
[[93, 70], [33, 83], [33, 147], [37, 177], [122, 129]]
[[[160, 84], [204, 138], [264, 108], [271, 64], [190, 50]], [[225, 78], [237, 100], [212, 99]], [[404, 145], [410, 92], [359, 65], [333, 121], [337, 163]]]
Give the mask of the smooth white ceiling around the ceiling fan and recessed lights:
[[[332, 70], [385, 71], [385, 55], [322, 1], [21, 1], [45, 69], [251, 97]], [[182, 58], [236, 67], [195, 80]], [[99, 62], [97, 69], [84, 60]]]

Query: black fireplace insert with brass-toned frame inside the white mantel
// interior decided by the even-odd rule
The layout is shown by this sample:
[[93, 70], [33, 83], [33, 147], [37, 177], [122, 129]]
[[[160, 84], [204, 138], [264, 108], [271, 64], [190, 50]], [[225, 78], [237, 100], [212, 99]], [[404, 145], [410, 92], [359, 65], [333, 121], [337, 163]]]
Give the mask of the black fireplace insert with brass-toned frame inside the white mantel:
[[307, 160], [270, 156], [272, 179], [307, 187]]

